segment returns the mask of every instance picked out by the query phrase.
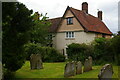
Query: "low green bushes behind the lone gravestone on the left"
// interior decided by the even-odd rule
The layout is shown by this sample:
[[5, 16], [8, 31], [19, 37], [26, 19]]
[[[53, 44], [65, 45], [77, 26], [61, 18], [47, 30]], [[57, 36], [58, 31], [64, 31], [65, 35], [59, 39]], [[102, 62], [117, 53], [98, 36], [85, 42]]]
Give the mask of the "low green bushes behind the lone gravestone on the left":
[[27, 60], [31, 54], [41, 54], [43, 62], [63, 62], [65, 56], [51, 47], [41, 47], [39, 44], [29, 43], [25, 46]]

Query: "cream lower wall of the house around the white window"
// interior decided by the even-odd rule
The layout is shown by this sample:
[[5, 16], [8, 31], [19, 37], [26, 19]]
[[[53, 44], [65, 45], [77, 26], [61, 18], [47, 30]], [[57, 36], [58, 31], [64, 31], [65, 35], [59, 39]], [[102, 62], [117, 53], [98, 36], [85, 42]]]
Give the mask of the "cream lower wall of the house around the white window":
[[54, 47], [63, 53], [63, 49], [66, 53], [67, 45], [71, 43], [90, 43], [95, 38], [95, 33], [86, 33], [84, 31], [76, 31], [75, 38], [66, 38], [66, 32], [59, 32], [54, 38]]

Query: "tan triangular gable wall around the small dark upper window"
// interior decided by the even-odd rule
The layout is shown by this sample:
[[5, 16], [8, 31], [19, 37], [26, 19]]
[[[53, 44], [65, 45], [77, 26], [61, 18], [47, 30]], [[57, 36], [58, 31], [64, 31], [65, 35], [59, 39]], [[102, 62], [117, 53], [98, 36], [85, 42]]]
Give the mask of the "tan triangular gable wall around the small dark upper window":
[[[68, 17], [73, 17], [73, 24], [67, 25]], [[64, 14], [64, 17], [59, 25], [59, 28], [57, 29], [57, 32], [80, 31], [80, 30], [84, 30], [84, 29], [82, 28], [80, 23], [77, 21], [73, 13], [68, 9]]]

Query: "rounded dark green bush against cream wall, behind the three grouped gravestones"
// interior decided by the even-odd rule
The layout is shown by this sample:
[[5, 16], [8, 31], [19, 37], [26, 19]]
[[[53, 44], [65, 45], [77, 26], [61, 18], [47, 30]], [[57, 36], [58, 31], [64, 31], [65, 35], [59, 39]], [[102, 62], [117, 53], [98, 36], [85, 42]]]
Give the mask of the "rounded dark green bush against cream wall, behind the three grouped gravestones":
[[68, 45], [67, 54], [69, 60], [84, 61], [88, 56], [92, 56], [91, 45], [72, 43]]

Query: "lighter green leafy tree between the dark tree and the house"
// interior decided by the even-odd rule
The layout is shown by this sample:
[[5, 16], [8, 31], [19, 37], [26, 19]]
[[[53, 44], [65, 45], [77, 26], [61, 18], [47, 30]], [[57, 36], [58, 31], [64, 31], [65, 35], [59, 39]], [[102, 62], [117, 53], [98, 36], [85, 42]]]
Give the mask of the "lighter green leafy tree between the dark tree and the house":
[[31, 42], [35, 44], [39, 43], [41, 46], [46, 46], [52, 40], [50, 36], [48, 36], [51, 34], [49, 32], [51, 23], [47, 20], [48, 17], [46, 17], [46, 15], [47, 14], [45, 14], [45, 16], [42, 14], [39, 15], [38, 12], [33, 15], [34, 26], [31, 30]]

